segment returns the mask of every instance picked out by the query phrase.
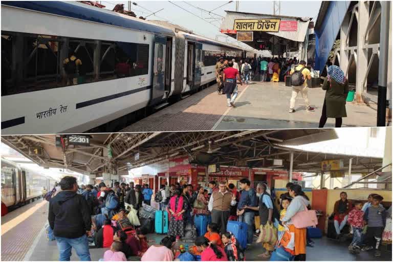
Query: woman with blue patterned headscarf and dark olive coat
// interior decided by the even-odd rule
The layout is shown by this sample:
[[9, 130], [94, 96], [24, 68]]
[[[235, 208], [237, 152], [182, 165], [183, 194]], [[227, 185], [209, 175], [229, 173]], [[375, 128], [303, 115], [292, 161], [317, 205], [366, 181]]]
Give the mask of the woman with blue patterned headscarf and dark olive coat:
[[348, 80], [337, 65], [331, 65], [328, 68], [328, 77], [323, 81], [322, 89], [326, 90], [326, 94], [319, 128], [325, 125], [328, 117], [336, 118], [335, 126], [341, 127], [342, 118], [346, 117], [345, 103], [348, 95]]

